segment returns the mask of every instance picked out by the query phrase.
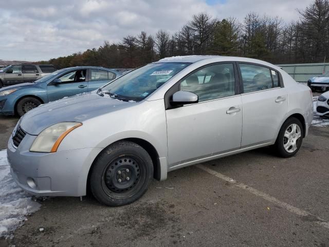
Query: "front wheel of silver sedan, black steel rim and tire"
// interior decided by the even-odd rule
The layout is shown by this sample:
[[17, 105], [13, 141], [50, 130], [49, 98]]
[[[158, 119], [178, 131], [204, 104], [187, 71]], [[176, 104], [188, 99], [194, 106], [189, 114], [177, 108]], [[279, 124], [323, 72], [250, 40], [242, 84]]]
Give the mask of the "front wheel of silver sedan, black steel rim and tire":
[[136, 143], [120, 141], [96, 158], [90, 173], [90, 190], [100, 203], [122, 206], [141, 198], [152, 177], [149, 153]]

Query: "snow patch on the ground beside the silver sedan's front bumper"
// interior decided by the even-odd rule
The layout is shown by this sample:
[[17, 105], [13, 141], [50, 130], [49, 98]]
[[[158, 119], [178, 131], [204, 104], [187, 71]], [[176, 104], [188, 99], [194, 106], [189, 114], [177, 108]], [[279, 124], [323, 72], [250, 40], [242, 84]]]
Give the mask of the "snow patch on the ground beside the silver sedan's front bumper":
[[16, 185], [10, 174], [7, 151], [0, 150], [0, 237], [12, 237], [11, 233], [27, 220], [25, 216], [40, 206]]

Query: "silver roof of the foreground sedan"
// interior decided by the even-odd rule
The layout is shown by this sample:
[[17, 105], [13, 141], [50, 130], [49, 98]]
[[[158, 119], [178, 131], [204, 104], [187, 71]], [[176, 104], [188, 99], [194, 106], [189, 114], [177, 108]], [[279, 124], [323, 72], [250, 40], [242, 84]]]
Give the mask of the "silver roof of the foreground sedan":
[[243, 57], [228, 57], [228, 56], [217, 56], [217, 55], [191, 55], [191, 56], [176, 56], [176, 57], [169, 57], [163, 58], [155, 63], [195, 63], [200, 60], [211, 60], [211, 62], [227, 62], [227, 61], [237, 61], [237, 62], [248, 62], [248, 63], [257, 63], [263, 64], [270, 67], [279, 68], [276, 65], [271, 63], [252, 59], [252, 58], [243, 58]]

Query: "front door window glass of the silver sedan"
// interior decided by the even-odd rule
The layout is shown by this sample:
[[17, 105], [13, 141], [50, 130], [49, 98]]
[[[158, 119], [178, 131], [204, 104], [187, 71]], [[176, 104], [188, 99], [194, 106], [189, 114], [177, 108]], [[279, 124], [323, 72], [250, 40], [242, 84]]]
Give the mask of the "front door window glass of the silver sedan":
[[233, 64], [215, 64], [201, 68], [180, 83], [180, 90], [198, 95], [199, 101], [234, 95]]

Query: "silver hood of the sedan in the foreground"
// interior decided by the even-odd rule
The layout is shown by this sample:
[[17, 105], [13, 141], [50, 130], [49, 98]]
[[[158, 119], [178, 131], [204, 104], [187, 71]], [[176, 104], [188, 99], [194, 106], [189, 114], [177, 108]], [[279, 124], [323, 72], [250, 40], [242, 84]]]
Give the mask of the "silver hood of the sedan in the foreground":
[[30, 135], [38, 135], [47, 127], [59, 122], [83, 122], [134, 104], [136, 102], [102, 97], [95, 92], [85, 93], [40, 105], [22, 117], [20, 126]]

